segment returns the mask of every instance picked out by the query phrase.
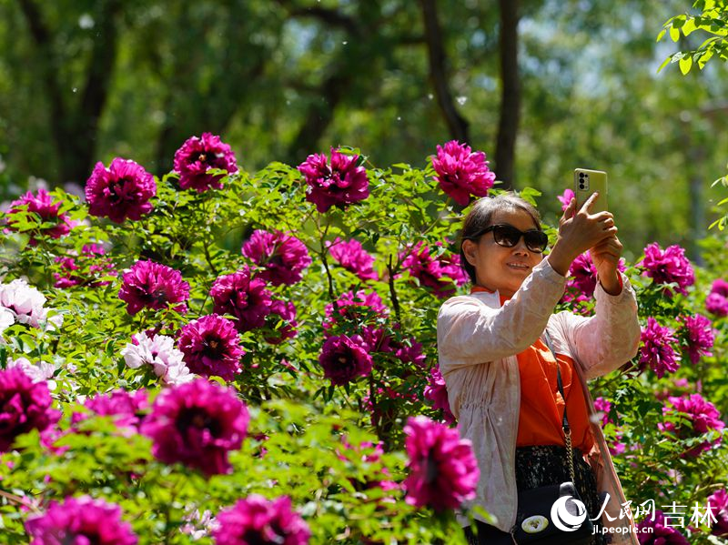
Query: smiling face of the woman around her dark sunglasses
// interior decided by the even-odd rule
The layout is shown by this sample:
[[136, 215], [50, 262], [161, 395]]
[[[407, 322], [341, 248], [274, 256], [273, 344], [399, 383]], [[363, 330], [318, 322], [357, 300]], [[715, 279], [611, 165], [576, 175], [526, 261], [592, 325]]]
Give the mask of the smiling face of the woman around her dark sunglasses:
[[[490, 221], [490, 225], [497, 224], [508, 224], [521, 231], [539, 228], [528, 212], [520, 208], [498, 210]], [[513, 297], [543, 258], [541, 252], [532, 252], [526, 247], [523, 237], [514, 247], [500, 246], [493, 239], [492, 231], [477, 241], [465, 240], [462, 249], [470, 265], [475, 267], [476, 283], [491, 291], [498, 290], [507, 298]]]

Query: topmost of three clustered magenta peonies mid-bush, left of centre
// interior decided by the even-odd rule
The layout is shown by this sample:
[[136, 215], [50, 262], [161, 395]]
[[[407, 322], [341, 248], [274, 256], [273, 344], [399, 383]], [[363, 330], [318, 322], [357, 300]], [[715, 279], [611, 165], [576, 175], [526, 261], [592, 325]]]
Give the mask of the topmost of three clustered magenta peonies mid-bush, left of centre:
[[273, 286], [293, 286], [303, 278], [303, 270], [311, 264], [306, 246], [293, 235], [275, 230], [272, 233], [257, 229], [243, 245], [243, 255], [263, 270], [258, 278]]

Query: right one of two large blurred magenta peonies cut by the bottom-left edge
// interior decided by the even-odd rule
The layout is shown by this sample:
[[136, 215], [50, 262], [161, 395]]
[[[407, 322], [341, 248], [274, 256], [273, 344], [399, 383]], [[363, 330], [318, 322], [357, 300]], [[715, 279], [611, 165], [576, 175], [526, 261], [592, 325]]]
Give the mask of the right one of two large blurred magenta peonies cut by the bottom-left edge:
[[217, 545], [306, 545], [308, 525], [291, 509], [290, 498], [267, 500], [250, 494], [217, 515]]

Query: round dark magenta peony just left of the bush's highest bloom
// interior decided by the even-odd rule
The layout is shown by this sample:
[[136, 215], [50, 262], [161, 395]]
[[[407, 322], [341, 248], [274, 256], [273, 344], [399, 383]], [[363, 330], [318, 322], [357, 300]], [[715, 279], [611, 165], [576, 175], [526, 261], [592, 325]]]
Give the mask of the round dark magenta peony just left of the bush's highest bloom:
[[86, 201], [91, 216], [121, 223], [139, 219], [152, 210], [149, 199], [157, 195], [154, 177], [134, 161], [116, 157], [108, 168], [96, 163], [86, 182]]

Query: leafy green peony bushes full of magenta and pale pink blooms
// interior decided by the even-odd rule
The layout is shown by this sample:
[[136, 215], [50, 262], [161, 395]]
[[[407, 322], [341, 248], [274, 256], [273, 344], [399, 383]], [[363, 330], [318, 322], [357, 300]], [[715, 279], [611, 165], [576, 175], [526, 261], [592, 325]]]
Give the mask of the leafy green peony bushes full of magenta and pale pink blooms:
[[[174, 159], [5, 208], [0, 543], [464, 542], [478, 467], [435, 321], [468, 290], [462, 207], [500, 191], [485, 154], [251, 173], [206, 133]], [[728, 248], [703, 247], [706, 267], [660, 241], [623, 264], [642, 346], [591, 382], [632, 512], [670, 542], [728, 537]], [[563, 308], [590, 315], [596, 281], [585, 254]]]

